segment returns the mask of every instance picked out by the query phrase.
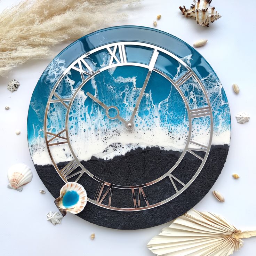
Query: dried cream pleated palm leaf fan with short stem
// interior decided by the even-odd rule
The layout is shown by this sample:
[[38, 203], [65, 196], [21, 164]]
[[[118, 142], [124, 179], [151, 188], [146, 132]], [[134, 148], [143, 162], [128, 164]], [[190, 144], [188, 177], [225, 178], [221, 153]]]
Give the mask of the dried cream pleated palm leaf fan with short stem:
[[228, 256], [256, 231], [236, 229], [221, 216], [190, 210], [152, 238], [147, 247], [165, 256]]

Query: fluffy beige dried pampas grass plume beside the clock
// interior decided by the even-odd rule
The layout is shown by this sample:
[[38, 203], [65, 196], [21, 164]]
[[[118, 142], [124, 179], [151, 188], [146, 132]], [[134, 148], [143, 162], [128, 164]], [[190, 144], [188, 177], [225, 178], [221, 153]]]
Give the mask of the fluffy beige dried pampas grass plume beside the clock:
[[[0, 14], [0, 76], [51, 47], [76, 40], [126, 17], [139, 0], [24, 0]], [[123, 11], [120, 12], [120, 9]]]

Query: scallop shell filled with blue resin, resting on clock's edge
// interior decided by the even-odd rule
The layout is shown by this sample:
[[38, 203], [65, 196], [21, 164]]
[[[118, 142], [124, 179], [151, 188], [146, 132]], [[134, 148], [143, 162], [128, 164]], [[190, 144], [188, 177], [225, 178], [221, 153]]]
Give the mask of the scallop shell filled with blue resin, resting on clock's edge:
[[54, 202], [63, 216], [67, 211], [78, 214], [86, 206], [87, 194], [82, 185], [68, 182], [61, 188], [60, 196]]

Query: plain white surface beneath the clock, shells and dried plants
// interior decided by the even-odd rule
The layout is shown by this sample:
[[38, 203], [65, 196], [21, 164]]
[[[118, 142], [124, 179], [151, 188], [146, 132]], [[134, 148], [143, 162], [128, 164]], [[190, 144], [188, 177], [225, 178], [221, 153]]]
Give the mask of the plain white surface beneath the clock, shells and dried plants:
[[[14, 2], [17, 1], [1, 1], [0, 11]], [[194, 208], [220, 214], [239, 229], [256, 230], [254, 1], [213, 0], [212, 6], [216, 7], [222, 18], [210, 24], [209, 28], [200, 27], [181, 15], [178, 7], [189, 7], [191, 3], [192, 0], [145, 0], [141, 7], [130, 9], [126, 21], [113, 25], [152, 27], [155, 17], [161, 14], [157, 29], [173, 34], [190, 45], [198, 39], [209, 40], [198, 51], [222, 81], [231, 109], [232, 137], [222, 174]], [[56, 53], [68, 44], [55, 48]], [[127, 231], [100, 227], [72, 214], [67, 214], [61, 225], [54, 226], [46, 221], [46, 214], [57, 209], [53, 196], [33, 167], [27, 145], [26, 120], [33, 89], [51, 59], [30, 61], [13, 69], [8, 77], [0, 78], [0, 254], [153, 255], [146, 244], [168, 223], [150, 229]], [[20, 81], [21, 86], [18, 91], [11, 93], [7, 90], [7, 84], [14, 78]], [[234, 94], [232, 83], [238, 83], [239, 95]], [[5, 110], [6, 105], [10, 106], [10, 110]], [[239, 111], [248, 112], [250, 122], [238, 124], [235, 114]], [[16, 129], [21, 130], [19, 136], [15, 134]], [[22, 192], [6, 187], [7, 169], [19, 162], [30, 166], [34, 174], [32, 182]], [[233, 173], [241, 178], [235, 180], [231, 176]], [[40, 189], [45, 189], [46, 194], [40, 194]], [[224, 195], [224, 203], [214, 198], [213, 190]], [[95, 233], [94, 241], [90, 240], [91, 233]], [[246, 239], [245, 246], [235, 255], [255, 255], [255, 245], [256, 238]]]

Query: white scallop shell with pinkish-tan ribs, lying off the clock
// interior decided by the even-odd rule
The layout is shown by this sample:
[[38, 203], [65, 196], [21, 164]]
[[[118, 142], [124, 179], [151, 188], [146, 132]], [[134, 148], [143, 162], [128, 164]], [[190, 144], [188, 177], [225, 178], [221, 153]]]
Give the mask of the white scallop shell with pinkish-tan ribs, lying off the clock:
[[33, 173], [24, 163], [17, 163], [9, 168], [7, 176], [10, 183], [8, 187], [22, 191], [23, 186], [31, 182]]

